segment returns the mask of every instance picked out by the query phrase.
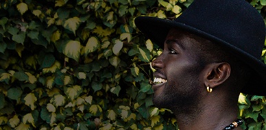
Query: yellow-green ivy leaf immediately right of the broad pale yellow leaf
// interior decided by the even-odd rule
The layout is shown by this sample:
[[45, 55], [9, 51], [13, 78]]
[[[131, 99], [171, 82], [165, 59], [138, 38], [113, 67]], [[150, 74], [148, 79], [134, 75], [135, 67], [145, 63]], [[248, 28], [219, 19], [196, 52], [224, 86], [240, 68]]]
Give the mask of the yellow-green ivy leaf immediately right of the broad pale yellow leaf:
[[85, 47], [85, 54], [92, 53], [93, 51], [96, 51], [99, 48], [99, 40], [95, 38], [94, 36], [88, 39], [88, 42], [86, 43]]

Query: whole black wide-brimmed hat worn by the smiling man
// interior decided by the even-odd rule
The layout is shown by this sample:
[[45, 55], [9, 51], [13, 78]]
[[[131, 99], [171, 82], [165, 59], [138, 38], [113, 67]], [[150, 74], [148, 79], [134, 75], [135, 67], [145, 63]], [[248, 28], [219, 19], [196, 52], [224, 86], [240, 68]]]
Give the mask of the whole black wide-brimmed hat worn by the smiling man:
[[195, 0], [174, 21], [139, 16], [135, 24], [159, 47], [163, 47], [171, 28], [212, 40], [254, 69], [254, 75], [241, 92], [266, 95], [266, 65], [261, 60], [265, 23], [250, 3], [244, 0]]

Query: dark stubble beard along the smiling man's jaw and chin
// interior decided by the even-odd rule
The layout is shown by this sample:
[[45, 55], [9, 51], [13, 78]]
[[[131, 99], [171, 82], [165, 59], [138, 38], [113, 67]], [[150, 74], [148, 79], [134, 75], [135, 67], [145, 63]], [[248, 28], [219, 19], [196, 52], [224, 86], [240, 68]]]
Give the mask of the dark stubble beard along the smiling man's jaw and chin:
[[[154, 96], [154, 105], [159, 108], [170, 109], [176, 118], [187, 118], [187, 121], [195, 119], [200, 113], [201, 101], [198, 77], [189, 78], [186, 83], [177, 86], [167, 85], [162, 95]], [[192, 79], [195, 79], [192, 81]], [[182, 88], [177, 88], [182, 86]]]

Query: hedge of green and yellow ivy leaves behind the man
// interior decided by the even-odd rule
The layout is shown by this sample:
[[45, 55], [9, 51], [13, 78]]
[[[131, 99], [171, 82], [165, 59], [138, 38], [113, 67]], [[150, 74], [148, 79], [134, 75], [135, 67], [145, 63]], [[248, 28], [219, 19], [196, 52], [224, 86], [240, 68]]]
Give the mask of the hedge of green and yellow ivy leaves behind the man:
[[[173, 19], [191, 2], [1, 0], [0, 129], [178, 129], [152, 103], [160, 49], [134, 18]], [[249, 2], [264, 16], [266, 0]], [[266, 129], [265, 104], [240, 95], [244, 129]]]

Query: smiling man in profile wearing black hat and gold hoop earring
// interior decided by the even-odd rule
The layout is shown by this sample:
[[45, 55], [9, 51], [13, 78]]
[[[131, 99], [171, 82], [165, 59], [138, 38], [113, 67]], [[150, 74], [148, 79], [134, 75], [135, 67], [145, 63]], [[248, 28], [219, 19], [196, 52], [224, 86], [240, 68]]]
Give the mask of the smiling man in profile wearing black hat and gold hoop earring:
[[152, 62], [154, 105], [171, 109], [181, 130], [241, 129], [239, 93], [266, 94], [261, 15], [244, 0], [195, 0], [175, 21], [135, 23], [163, 50]]

